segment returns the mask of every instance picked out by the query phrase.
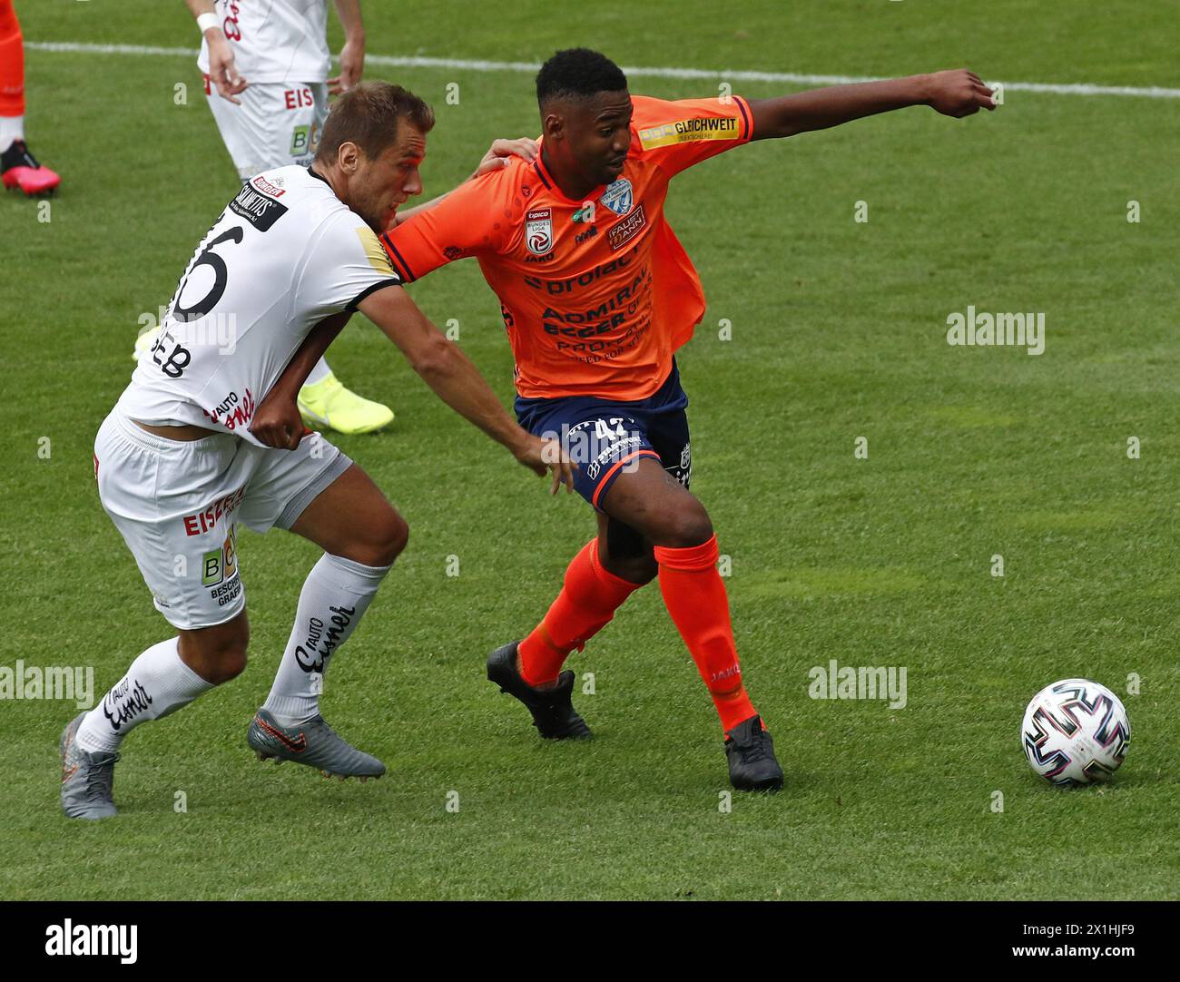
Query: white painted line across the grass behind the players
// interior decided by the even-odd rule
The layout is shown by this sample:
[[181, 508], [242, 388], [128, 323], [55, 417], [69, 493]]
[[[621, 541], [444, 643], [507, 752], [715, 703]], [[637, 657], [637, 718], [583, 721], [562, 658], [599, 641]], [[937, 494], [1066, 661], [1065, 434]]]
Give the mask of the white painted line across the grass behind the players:
[[[195, 48], [153, 47], [150, 45], [92, 45], [77, 41], [26, 41], [31, 51], [67, 52], [76, 54], [132, 54], [156, 57], [196, 58]], [[533, 73], [540, 65], [532, 61], [483, 61], [464, 58], [418, 58], [396, 57], [392, 54], [366, 54], [371, 65], [386, 65], [399, 68], [458, 68], [467, 72], [529, 72]], [[784, 81], [796, 85], [847, 85], [854, 81], [879, 81], [872, 76], [813, 76], [798, 72], [752, 72], [710, 68], [658, 68], [621, 66], [623, 72], [636, 78], [704, 78], [723, 79], [726, 81]], [[1149, 86], [1140, 89], [1130, 85], [1095, 85], [1081, 83], [1041, 83], [1041, 81], [1003, 81], [1008, 92], [1037, 92], [1050, 96], [1132, 96], [1148, 99], [1180, 99], [1180, 89], [1160, 89]]]

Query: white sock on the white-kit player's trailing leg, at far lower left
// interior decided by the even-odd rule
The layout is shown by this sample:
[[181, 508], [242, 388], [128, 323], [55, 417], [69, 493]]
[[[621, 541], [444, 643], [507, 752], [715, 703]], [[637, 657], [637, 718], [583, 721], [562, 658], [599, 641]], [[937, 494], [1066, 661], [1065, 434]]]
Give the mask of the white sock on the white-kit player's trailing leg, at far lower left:
[[153, 644], [91, 709], [74, 739], [90, 753], [113, 753], [144, 720], [158, 720], [214, 687], [181, 661], [178, 637]]

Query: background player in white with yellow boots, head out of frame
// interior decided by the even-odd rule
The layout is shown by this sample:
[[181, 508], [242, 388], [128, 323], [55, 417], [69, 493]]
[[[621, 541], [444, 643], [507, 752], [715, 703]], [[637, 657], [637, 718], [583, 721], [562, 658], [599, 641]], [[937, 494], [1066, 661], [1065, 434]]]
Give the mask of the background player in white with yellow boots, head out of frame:
[[[345, 28], [340, 74], [328, 78], [326, 0], [186, 0], [202, 28], [197, 65], [205, 99], [243, 181], [286, 164], [307, 166], [328, 114], [328, 96], [361, 79], [360, 0], [334, 0]], [[299, 395], [309, 426], [369, 433], [393, 411], [343, 386], [323, 359]]]

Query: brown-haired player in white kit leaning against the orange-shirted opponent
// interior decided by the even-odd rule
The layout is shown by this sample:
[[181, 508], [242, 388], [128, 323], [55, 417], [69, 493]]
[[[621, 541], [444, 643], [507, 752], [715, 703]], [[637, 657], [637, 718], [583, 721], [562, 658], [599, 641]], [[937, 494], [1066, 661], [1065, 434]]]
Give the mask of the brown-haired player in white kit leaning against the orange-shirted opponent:
[[271, 400], [286, 410], [268, 417], [262, 404], [284, 367], [306, 369], [322, 352], [296, 355], [308, 335], [330, 340], [352, 312], [363, 312], [452, 408], [537, 473], [549, 463], [555, 491], [572, 484], [557, 445], [516, 424], [400, 288], [378, 242], [398, 205], [421, 192], [418, 168], [433, 123], [412, 93], [363, 83], [340, 98], [309, 168], [247, 182], [197, 245], [156, 343], [99, 428], [103, 506], [177, 635], [143, 652], [61, 734], [67, 816], [114, 814], [114, 762], [127, 733], [245, 667], [237, 523], [287, 529], [324, 550], [249, 745], [262, 759], [341, 778], [385, 772], [324, 722], [319, 694], [408, 529], [346, 454], [320, 434], [301, 439], [294, 392]]

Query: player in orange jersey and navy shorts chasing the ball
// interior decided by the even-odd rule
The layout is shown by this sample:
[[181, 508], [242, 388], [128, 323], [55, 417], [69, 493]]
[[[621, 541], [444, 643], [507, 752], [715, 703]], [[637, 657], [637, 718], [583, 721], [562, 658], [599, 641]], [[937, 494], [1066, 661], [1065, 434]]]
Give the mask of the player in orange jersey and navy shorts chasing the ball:
[[782, 771], [742, 682], [716, 536], [688, 490], [688, 398], [674, 353], [703, 316], [704, 294], [664, 220], [668, 184], [752, 139], [911, 105], [968, 116], [995, 107], [991, 90], [961, 70], [753, 102], [664, 102], [632, 97], [610, 59], [572, 48], [542, 67], [537, 99], [536, 159], [509, 158], [381, 237], [407, 281], [478, 260], [516, 356], [517, 417], [562, 439], [597, 512], [597, 536], [549, 613], [492, 653], [487, 676], [529, 708], [542, 736], [589, 736], [562, 666], [658, 577], [721, 718], [733, 786], [776, 790]]

